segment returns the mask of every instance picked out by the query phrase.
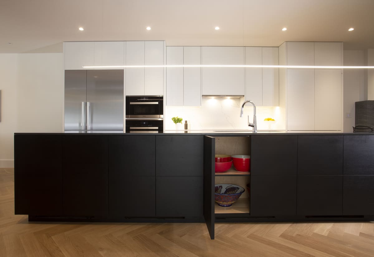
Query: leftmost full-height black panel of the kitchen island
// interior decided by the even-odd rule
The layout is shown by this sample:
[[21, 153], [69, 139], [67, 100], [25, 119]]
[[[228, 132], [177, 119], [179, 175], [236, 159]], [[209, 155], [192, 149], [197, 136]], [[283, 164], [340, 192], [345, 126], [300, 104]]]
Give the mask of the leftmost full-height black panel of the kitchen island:
[[61, 215], [60, 135], [15, 135], [15, 214]]

